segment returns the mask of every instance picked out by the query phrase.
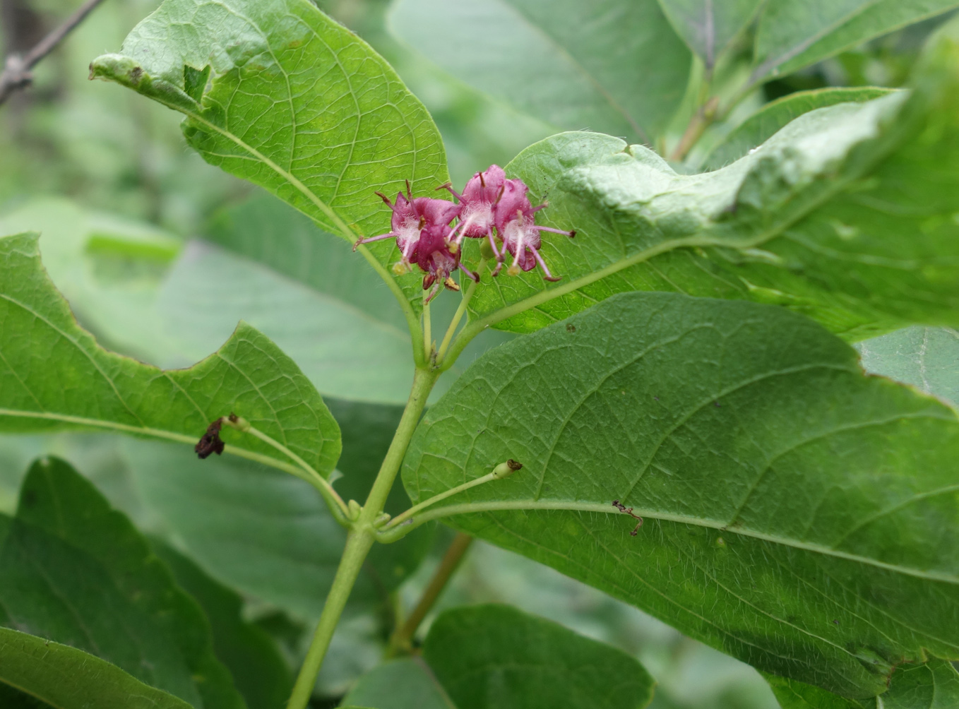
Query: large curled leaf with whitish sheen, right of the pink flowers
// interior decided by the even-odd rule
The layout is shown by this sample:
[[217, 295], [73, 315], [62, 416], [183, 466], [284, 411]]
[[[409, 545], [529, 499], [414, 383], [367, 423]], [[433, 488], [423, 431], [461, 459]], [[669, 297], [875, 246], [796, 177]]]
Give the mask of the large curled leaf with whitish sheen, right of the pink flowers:
[[489, 279], [477, 327], [509, 315], [500, 327], [528, 332], [631, 290], [782, 304], [851, 339], [955, 323], [959, 44], [930, 55], [911, 95], [809, 112], [712, 173], [595, 133], [531, 146], [507, 172], [549, 196], [546, 223], [577, 230], [544, 239], [564, 282]]

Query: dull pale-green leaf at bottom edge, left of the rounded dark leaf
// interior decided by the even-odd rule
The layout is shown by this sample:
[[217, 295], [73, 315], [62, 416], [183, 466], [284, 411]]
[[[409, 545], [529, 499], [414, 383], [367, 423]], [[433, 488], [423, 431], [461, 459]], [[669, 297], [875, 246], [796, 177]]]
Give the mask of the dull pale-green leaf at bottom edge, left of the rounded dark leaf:
[[360, 677], [342, 703], [376, 709], [456, 709], [433, 671], [419, 657], [378, 665]]

